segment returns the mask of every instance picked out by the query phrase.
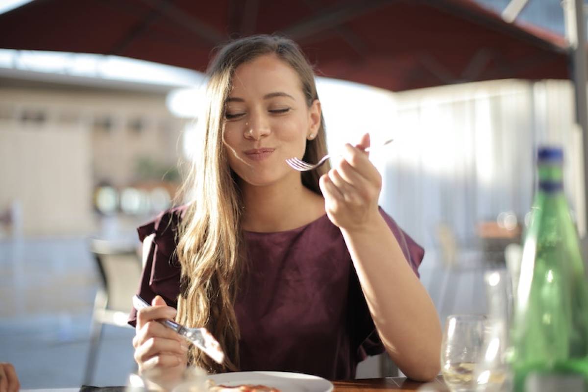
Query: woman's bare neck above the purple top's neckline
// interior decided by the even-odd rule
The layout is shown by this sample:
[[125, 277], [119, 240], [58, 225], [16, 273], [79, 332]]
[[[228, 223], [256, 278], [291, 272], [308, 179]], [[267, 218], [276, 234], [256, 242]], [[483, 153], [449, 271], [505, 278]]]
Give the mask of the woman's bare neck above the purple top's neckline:
[[252, 232], [281, 232], [296, 229], [325, 214], [323, 197], [302, 185], [252, 186], [242, 183], [242, 227]]

